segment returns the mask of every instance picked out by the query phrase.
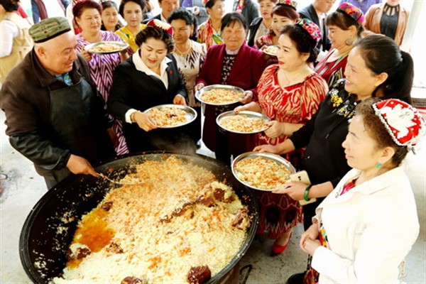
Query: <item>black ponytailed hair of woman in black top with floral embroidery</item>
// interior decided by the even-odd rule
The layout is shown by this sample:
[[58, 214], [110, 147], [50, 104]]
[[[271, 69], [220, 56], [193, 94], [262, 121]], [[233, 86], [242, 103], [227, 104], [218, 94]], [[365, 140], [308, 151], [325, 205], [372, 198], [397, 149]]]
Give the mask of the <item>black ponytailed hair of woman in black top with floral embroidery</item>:
[[375, 74], [388, 74], [385, 82], [379, 85], [373, 96], [382, 99], [400, 99], [411, 104], [414, 62], [410, 54], [400, 50], [391, 38], [385, 35], [368, 35], [355, 43], [366, 67]]

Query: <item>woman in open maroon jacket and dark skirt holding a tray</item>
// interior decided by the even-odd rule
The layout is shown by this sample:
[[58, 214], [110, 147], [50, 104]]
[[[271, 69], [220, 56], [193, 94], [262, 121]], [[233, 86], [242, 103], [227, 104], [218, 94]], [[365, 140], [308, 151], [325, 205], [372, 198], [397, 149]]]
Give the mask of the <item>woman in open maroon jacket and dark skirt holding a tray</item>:
[[256, 86], [266, 62], [259, 50], [246, 45], [247, 30], [246, 19], [240, 13], [227, 13], [222, 18], [224, 44], [209, 48], [195, 85], [195, 91], [212, 84], [228, 84], [245, 90], [244, 98], [236, 104], [206, 104], [204, 109], [202, 141], [214, 151], [218, 160], [228, 165], [231, 156], [235, 158], [256, 145], [255, 134], [231, 133], [216, 123], [219, 114], [235, 109], [241, 103], [251, 102], [252, 97], [256, 97]]

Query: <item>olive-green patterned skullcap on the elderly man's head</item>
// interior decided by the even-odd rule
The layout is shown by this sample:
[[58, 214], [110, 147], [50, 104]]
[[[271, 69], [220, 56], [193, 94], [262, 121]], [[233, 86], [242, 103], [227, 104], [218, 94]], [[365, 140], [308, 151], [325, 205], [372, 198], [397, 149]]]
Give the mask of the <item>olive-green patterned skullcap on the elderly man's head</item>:
[[43, 21], [35, 23], [28, 31], [34, 43], [44, 43], [47, 40], [56, 38], [62, 33], [71, 31], [70, 23], [63, 17], [45, 18]]

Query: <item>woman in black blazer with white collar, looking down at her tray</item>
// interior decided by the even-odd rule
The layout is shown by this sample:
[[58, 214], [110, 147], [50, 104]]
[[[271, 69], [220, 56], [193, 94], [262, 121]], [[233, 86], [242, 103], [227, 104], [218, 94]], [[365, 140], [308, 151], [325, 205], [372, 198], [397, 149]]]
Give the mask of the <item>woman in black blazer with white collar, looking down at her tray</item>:
[[136, 35], [139, 49], [116, 67], [108, 111], [121, 119], [131, 153], [151, 150], [195, 151], [185, 134], [191, 125], [158, 129], [143, 111], [160, 104], [186, 105], [186, 90], [175, 58], [172, 28], [153, 20]]

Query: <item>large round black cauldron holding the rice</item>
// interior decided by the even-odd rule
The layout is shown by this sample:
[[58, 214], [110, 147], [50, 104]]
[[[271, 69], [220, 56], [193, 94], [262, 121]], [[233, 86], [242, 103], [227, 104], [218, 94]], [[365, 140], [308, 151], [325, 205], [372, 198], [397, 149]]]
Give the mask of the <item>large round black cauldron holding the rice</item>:
[[[249, 249], [258, 224], [256, 197], [251, 190], [246, 189], [234, 178], [229, 167], [203, 155], [151, 152], [116, 158], [102, 163], [95, 170], [118, 180], [131, 173], [134, 165], [143, 163], [144, 160], [165, 160], [170, 155], [176, 155], [182, 160], [207, 168], [219, 180], [226, 180], [226, 183], [234, 188], [241, 202], [249, 207], [249, 214], [253, 217], [247, 239], [239, 253], [222, 271], [209, 280], [209, 283], [219, 283]], [[97, 207], [111, 186], [114, 185], [101, 178], [74, 175], [62, 180], [35, 204], [23, 224], [19, 240], [23, 268], [34, 283], [48, 283], [50, 279], [61, 274], [67, 262], [65, 253], [72, 241], [77, 223], [82, 215]]]

